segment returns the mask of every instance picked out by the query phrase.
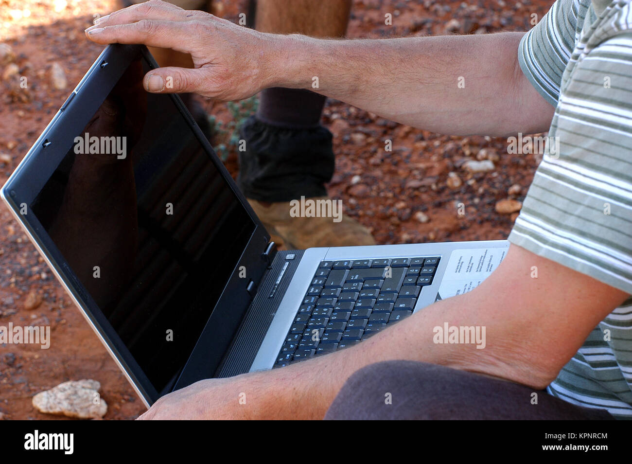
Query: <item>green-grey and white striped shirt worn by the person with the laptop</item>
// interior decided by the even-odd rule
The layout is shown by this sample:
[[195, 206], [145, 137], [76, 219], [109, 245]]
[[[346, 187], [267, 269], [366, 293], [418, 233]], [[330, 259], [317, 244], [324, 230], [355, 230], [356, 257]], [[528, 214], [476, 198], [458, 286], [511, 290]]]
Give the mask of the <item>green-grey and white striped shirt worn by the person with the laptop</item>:
[[[557, 0], [520, 42], [556, 107], [509, 240], [632, 294], [632, 0]], [[558, 149], [555, 149], [557, 147]], [[595, 327], [547, 391], [632, 419], [632, 298]]]

